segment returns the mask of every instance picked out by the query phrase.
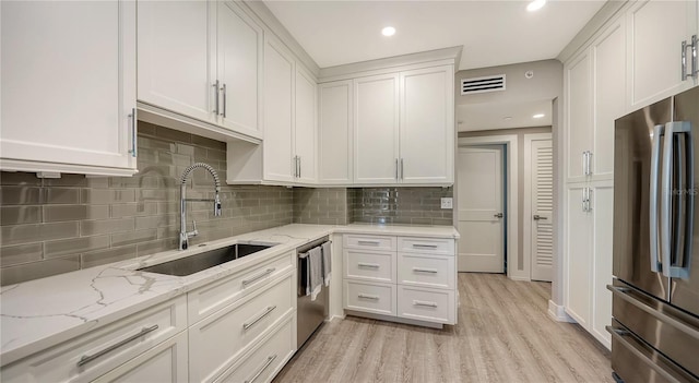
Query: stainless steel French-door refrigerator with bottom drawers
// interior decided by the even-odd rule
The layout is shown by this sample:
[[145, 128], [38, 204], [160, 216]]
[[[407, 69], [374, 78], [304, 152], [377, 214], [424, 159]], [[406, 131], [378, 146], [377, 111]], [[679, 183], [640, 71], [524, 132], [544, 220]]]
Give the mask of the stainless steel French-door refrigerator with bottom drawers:
[[699, 382], [699, 87], [619, 118], [612, 369]]

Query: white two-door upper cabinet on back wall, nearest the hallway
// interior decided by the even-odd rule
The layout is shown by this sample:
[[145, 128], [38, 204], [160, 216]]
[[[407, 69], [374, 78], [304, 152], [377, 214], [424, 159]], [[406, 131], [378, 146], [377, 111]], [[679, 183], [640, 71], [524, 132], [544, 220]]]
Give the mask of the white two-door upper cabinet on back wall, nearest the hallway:
[[451, 184], [453, 67], [354, 80], [354, 183]]

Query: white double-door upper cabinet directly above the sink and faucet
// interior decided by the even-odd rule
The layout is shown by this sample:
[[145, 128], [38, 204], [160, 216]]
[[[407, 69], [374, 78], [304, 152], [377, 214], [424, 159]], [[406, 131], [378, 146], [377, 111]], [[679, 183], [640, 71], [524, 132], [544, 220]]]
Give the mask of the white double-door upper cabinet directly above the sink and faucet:
[[142, 103], [261, 136], [263, 32], [233, 1], [140, 1]]

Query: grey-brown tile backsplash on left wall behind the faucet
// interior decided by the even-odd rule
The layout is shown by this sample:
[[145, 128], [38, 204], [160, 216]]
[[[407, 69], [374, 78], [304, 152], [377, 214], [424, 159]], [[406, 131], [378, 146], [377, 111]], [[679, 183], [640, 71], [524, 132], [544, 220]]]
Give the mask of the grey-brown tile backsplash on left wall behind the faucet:
[[[225, 143], [139, 122], [139, 173], [88, 178], [0, 173], [0, 283], [67, 273], [177, 248], [179, 177], [193, 163], [226, 179]], [[197, 169], [188, 198], [213, 196], [213, 178]], [[223, 215], [188, 203], [192, 243], [291, 224], [294, 192], [283, 187], [222, 184]], [[189, 226], [191, 229], [191, 226]]]

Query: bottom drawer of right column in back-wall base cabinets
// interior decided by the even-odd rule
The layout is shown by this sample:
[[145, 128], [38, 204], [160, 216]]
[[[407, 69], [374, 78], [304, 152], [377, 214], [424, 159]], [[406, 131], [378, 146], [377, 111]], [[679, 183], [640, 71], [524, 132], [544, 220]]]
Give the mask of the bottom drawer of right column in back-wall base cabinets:
[[398, 316], [454, 324], [457, 319], [454, 291], [399, 286]]

